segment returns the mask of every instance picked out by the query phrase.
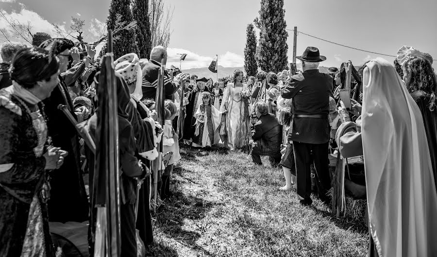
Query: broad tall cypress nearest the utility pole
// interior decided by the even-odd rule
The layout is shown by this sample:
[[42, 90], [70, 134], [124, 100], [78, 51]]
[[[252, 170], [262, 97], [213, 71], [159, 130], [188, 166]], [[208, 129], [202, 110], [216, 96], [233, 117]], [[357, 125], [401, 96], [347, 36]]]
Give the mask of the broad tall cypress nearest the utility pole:
[[265, 71], [279, 72], [286, 68], [287, 37], [284, 0], [261, 0], [259, 17], [254, 22], [260, 30], [256, 61]]

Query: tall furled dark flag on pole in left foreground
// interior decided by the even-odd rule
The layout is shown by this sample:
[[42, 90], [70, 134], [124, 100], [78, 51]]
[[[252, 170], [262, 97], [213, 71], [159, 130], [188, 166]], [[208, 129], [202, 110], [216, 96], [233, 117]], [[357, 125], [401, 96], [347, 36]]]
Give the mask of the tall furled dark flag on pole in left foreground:
[[101, 61], [97, 89], [96, 159], [92, 202], [97, 207], [94, 256], [118, 257], [120, 239], [120, 186], [118, 160], [117, 89], [112, 55], [112, 31], [108, 31], [108, 53]]

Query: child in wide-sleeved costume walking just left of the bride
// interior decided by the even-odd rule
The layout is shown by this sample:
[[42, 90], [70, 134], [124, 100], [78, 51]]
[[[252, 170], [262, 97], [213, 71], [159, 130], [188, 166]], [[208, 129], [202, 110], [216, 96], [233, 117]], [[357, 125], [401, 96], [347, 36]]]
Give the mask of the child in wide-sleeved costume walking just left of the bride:
[[[218, 144], [220, 136], [214, 133], [218, 128], [221, 120], [222, 112], [219, 112], [211, 104], [211, 93], [202, 92], [202, 104], [194, 113], [196, 118], [196, 130], [193, 136], [192, 146], [194, 147], [211, 147], [211, 145]], [[226, 111], [225, 111], [226, 112]]]

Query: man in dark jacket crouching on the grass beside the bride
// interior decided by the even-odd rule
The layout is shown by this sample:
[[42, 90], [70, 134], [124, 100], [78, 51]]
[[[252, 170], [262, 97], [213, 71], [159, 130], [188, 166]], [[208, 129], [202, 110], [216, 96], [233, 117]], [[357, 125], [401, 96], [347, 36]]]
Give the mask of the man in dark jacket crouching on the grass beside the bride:
[[272, 166], [281, 162], [282, 126], [275, 115], [268, 112], [268, 104], [263, 101], [255, 103], [255, 112], [259, 120], [252, 130], [252, 161], [261, 165], [260, 156], [269, 156]]

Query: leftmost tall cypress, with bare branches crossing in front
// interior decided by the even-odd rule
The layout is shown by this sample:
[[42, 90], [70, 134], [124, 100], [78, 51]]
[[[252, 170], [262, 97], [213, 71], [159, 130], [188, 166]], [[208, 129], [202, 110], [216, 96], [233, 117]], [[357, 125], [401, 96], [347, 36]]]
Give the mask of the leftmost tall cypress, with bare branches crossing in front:
[[[109, 7], [109, 16], [106, 20], [108, 29], [115, 30], [116, 23], [129, 24], [134, 20], [131, 10], [131, 0], [112, 0]], [[121, 20], [117, 21], [117, 15], [121, 16]], [[114, 40], [114, 58], [137, 52], [135, 43], [135, 30], [122, 30], [117, 33]]]

